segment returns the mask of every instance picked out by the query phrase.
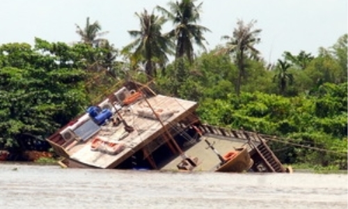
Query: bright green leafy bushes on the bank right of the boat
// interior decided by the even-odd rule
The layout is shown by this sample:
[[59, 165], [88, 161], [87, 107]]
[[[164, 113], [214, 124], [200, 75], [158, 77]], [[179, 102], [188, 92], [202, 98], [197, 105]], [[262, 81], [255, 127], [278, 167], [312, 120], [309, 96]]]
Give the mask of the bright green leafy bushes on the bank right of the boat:
[[[324, 84], [323, 95], [285, 98], [266, 93], [229, 93], [224, 100], [205, 98], [198, 114], [203, 121], [261, 134], [271, 140], [281, 162], [310, 162], [347, 169], [347, 83]], [[312, 150], [319, 148], [322, 150]]]

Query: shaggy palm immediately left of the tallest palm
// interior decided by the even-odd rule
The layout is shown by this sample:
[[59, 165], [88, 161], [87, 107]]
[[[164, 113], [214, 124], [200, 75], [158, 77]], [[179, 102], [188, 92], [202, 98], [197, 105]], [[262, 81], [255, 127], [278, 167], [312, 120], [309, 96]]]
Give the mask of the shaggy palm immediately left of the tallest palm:
[[131, 59], [143, 61], [145, 64], [145, 73], [148, 81], [157, 75], [156, 67], [164, 67], [168, 61], [167, 54], [173, 54], [173, 42], [171, 39], [161, 33], [163, 24], [166, 22], [164, 17], [148, 14], [147, 10], [143, 13], [135, 13], [139, 17], [141, 29], [139, 31], [128, 31], [130, 36], [136, 38], [129, 45], [122, 49], [124, 54], [132, 53]]

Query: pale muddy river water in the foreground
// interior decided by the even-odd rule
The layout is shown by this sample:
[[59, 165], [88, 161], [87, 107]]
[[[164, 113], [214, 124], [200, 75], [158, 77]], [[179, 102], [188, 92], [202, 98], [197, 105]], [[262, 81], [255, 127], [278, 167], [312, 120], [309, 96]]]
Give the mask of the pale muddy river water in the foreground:
[[347, 174], [183, 173], [0, 164], [0, 208], [347, 208]]

